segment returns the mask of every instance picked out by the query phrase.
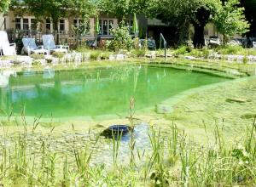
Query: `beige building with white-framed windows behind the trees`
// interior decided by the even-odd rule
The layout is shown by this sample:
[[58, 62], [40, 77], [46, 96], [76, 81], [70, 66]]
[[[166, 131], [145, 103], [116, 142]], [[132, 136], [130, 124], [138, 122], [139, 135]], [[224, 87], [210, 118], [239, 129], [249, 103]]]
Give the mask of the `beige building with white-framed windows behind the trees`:
[[[102, 40], [110, 39], [111, 29], [118, 26], [119, 20], [111, 15], [100, 15], [100, 33], [97, 37]], [[159, 39], [160, 33], [166, 37], [170, 45], [175, 43], [176, 28], [166, 26], [160, 20], [147, 19], [143, 15], [137, 15], [139, 26], [139, 37], [153, 37], [155, 40]], [[95, 40], [95, 23], [96, 19], [91, 17], [89, 22], [89, 30], [82, 38], [83, 40]], [[58, 36], [60, 43], [66, 43], [73, 46], [75, 43], [76, 35], [73, 27], [79, 26], [81, 19], [76, 17], [61, 18], [58, 23]], [[125, 20], [126, 26], [129, 26], [130, 31], [133, 25], [133, 16]], [[9, 40], [15, 42], [19, 37], [35, 37], [38, 42], [42, 42], [42, 35], [47, 33], [54, 33], [53, 23], [50, 19], [45, 19], [41, 23], [35, 25], [35, 17], [31, 14], [24, 14], [21, 16], [16, 15], [13, 11], [8, 14], [0, 14], [0, 30], [8, 31]], [[191, 30], [193, 34], [193, 29]], [[218, 33], [212, 24], [206, 26], [205, 37], [217, 36]], [[189, 38], [188, 38], [189, 39]]]

